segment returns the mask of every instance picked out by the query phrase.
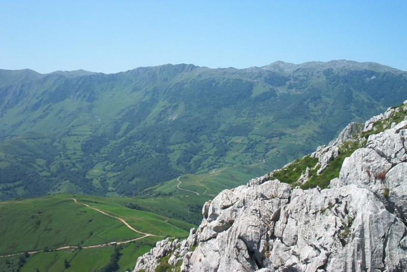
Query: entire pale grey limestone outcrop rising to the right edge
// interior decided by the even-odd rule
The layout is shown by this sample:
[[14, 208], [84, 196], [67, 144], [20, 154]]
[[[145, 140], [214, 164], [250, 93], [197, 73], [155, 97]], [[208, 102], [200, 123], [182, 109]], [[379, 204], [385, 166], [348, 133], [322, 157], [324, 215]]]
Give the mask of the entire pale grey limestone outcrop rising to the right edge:
[[[172, 253], [181, 271], [407, 270], [407, 120], [392, 121], [405, 112], [407, 101], [318, 148], [311, 157], [322, 169], [341, 144], [362, 145], [328, 189], [292, 189], [263, 176], [222, 191], [203, 206], [183, 253]], [[140, 265], [146, 260], [140, 257], [135, 271], [153, 271]]]

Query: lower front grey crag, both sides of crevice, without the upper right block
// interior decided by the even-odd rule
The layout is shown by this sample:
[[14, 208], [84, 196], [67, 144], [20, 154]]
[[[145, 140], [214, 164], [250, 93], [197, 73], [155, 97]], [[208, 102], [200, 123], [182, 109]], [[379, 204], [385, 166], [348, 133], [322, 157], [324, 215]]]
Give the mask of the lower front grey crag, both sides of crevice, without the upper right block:
[[[211, 203], [216, 219], [203, 220], [198, 247], [184, 258], [182, 271], [407, 268], [407, 228], [367, 189], [352, 184], [291, 191], [278, 181], [256, 190], [239, 188], [222, 192]], [[267, 191], [271, 193], [265, 195]], [[219, 202], [226, 196], [232, 196], [235, 201], [228, 203], [234, 205], [226, 208]]]

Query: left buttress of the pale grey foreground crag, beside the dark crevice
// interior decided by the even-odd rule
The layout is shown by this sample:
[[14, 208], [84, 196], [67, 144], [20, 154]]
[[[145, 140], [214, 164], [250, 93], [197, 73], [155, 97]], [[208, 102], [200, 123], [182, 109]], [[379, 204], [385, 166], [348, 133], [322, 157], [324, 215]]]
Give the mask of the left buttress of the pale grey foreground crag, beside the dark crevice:
[[[198, 247], [182, 271], [247, 271], [263, 268], [265, 243], [289, 200], [291, 187], [266, 181], [222, 191], [197, 229]], [[236, 223], [238, 222], [238, 223]]]

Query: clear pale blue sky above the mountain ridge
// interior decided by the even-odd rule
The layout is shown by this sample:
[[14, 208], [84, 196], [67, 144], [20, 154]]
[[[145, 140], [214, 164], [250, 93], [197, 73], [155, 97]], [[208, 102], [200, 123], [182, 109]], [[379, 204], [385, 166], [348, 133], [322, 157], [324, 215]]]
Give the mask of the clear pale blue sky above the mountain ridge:
[[407, 1], [0, 0], [0, 69], [348, 59], [407, 71]]

